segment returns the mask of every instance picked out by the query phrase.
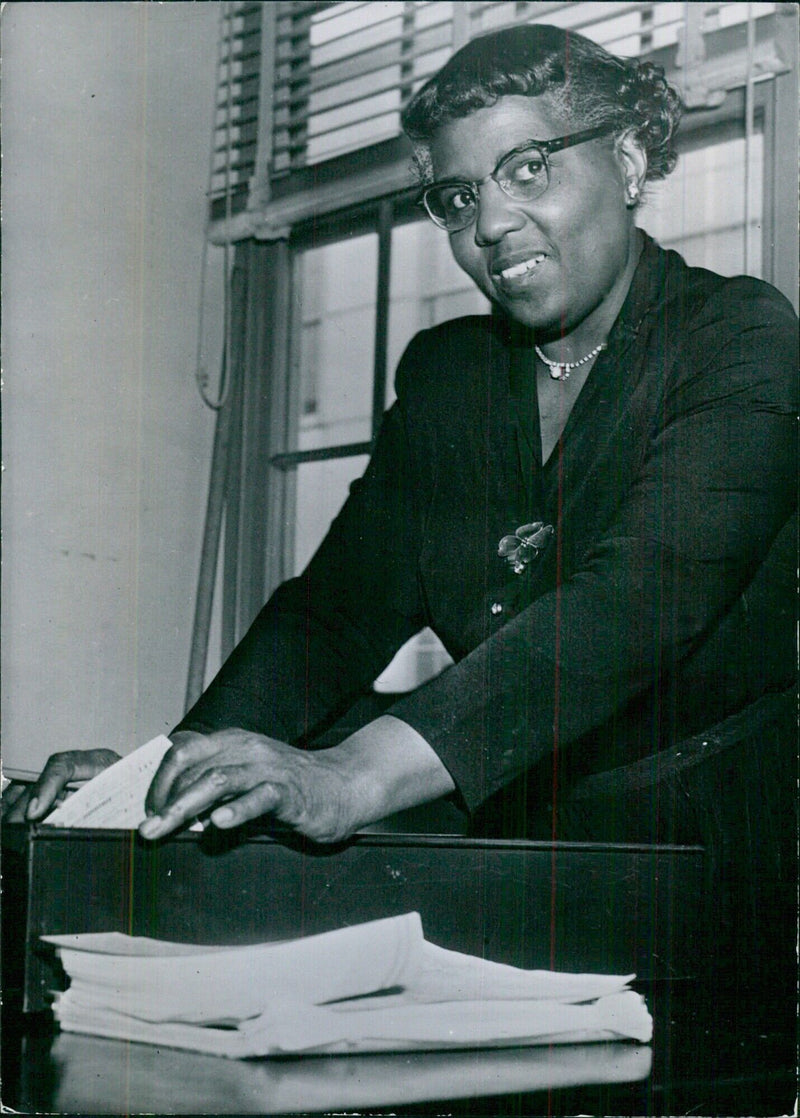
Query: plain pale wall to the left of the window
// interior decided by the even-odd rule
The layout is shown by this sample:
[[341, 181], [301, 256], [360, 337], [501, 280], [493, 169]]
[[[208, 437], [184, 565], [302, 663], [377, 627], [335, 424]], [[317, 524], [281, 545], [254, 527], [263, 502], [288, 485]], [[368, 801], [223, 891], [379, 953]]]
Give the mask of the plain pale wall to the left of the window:
[[182, 711], [217, 3], [3, 6], [3, 765]]

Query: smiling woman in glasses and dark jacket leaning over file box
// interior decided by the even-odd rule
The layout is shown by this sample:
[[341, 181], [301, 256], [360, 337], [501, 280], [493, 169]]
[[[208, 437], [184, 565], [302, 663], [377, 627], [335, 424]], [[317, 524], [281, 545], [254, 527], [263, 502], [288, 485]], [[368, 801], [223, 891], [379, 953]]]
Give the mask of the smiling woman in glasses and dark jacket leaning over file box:
[[[331, 842], [447, 795], [475, 828], [569, 837], [587, 780], [779, 726], [796, 324], [637, 229], [678, 116], [656, 67], [543, 26], [416, 95], [425, 206], [496, 313], [412, 340], [364, 477], [173, 732], [145, 837], [272, 814]], [[307, 748], [426, 624], [455, 665]], [[51, 758], [18, 814], [103, 762]], [[657, 784], [611, 780], [611, 836], [691, 837]]]

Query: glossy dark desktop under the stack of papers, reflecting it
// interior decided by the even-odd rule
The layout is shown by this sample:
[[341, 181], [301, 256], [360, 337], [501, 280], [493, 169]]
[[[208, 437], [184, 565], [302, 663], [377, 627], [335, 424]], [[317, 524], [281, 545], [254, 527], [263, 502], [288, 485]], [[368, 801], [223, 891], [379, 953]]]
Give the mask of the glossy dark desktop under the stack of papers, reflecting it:
[[696, 983], [653, 986], [646, 993], [656, 1025], [651, 1048], [229, 1061], [32, 1031], [3, 1101], [23, 1114], [82, 1116], [790, 1114], [797, 1093], [790, 985], [769, 998]]

